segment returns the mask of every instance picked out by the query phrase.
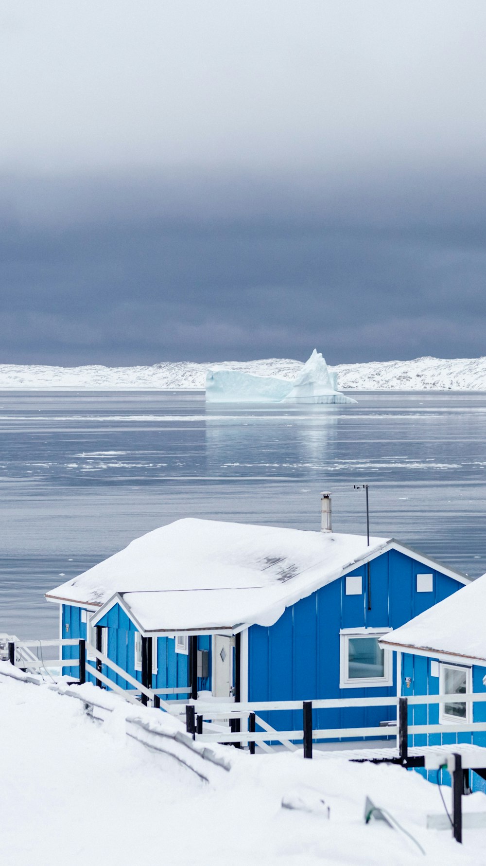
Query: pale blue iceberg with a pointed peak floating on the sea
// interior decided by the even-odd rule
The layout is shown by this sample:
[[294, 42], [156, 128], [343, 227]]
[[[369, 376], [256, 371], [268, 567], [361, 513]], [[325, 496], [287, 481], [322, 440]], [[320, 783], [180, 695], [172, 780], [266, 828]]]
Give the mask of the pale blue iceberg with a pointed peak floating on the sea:
[[329, 373], [321, 352], [314, 352], [295, 379], [258, 376], [210, 367], [206, 374], [208, 403], [356, 403], [337, 391], [336, 373]]

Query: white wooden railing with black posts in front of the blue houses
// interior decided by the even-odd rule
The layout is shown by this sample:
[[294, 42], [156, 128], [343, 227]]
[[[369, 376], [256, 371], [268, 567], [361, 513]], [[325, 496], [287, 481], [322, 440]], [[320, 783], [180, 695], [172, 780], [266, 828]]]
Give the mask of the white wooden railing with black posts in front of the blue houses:
[[[55, 659], [45, 661], [38, 659], [31, 648], [43, 650], [48, 646], [78, 646], [79, 657], [74, 659]], [[18, 655], [18, 658], [17, 658]], [[93, 677], [100, 688], [105, 686], [118, 695], [122, 695], [131, 703], [150, 704], [163, 709], [169, 714], [178, 714], [181, 710], [180, 701], [163, 701], [161, 695], [189, 695], [190, 686], [176, 688], [149, 688], [137, 680], [135, 676], [120, 668], [112, 659], [97, 650], [84, 639], [70, 638], [63, 640], [15, 641], [9, 643], [9, 660], [17, 668], [35, 672], [48, 666], [64, 668], [79, 668], [77, 682], [86, 682], [86, 675]], [[94, 665], [90, 662], [94, 660]], [[106, 666], [106, 672], [102, 667]], [[107, 672], [125, 682], [125, 688], [118, 685]], [[149, 680], [150, 682], [150, 680]], [[186, 729], [194, 740], [202, 743], [227, 743], [234, 746], [248, 746], [254, 753], [255, 745], [265, 751], [272, 751], [272, 742], [281, 743], [285, 748], [295, 751], [296, 742], [302, 741], [304, 757], [312, 757], [312, 746], [315, 740], [357, 740], [358, 738], [397, 737], [398, 757], [393, 761], [402, 766], [422, 766], [414, 756], [408, 754], [408, 738], [414, 734], [462, 734], [486, 733], [486, 721], [457, 721], [451, 724], [412, 724], [408, 723], [408, 708], [441, 703], [482, 703], [486, 701], [486, 693], [468, 695], [411, 695], [410, 697], [365, 697], [365, 698], [323, 698], [312, 701], [253, 701], [239, 703], [209, 703], [201, 700], [182, 701], [186, 708]], [[313, 727], [315, 710], [352, 709], [352, 708], [397, 708], [397, 721], [387, 723], [386, 727]], [[302, 713], [302, 727], [297, 730], [277, 730], [258, 713], [272, 713], [291, 710]], [[229, 730], [215, 729], [209, 725], [204, 730], [204, 721], [216, 722], [229, 720]], [[246, 729], [241, 730], [241, 723]], [[261, 730], [257, 731], [256, 727]]]

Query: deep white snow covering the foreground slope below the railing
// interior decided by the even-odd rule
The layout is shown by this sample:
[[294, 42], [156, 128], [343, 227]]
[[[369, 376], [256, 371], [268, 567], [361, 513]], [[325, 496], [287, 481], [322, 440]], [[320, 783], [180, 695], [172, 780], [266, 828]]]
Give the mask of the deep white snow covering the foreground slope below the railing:
[[[106, 695], [116, 709], [99, 724], [80, 701], [3, 675], [0, 700], [1, 849], [9, 866], [484, 863], [486, 829], [464, 830], [462, 846], [448, 830], [425, 829], [426, 814], [443, 806], [437, 785], [418, 773], [318, 753], [310, 761], [300, 752], [250, 756], [216, 746], [231, 769], [214, 768], [203, 782], [126, 736], [126, 714], [168, 730], [179, 724], [160, 711]], [[364, 824], [367, 796], [412, 834], [425, 857], [401, 830]], [[444, 797], [450, 805], [450, 789]], [[282, 808], [284, 798], [310, 811]], [[464, 798], [464, 811], [485, 810], [483, 794]]]

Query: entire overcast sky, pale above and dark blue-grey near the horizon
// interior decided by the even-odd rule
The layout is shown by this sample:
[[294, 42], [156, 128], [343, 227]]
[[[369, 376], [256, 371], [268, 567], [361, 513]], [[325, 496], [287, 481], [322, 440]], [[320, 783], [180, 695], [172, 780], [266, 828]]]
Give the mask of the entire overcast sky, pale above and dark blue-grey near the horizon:
[[486, 354], [484, 0], [3, 0], [0, 362]]

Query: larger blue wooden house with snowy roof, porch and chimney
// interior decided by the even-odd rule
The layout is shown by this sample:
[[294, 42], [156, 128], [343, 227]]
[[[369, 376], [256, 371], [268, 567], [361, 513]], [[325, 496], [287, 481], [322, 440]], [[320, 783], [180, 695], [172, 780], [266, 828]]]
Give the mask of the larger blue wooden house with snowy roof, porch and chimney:
[[[333, 533], [329, 494], [322, 506], [321, 532], [188, 519], [145, 534], [47, 593], [61, 605], [61, 637], [94, 644], [97, 629], [99, 649], [137, 680], [146, 638], [145, 684], [184, 689], [179, 698], [395, 695], [394, 653], [380, 637], [469, 578], [393, 539]], [[320, 710], [316, 722], [378, 726], [393, 714]], [[273, 713], [272, 725], [301, 721]]]

